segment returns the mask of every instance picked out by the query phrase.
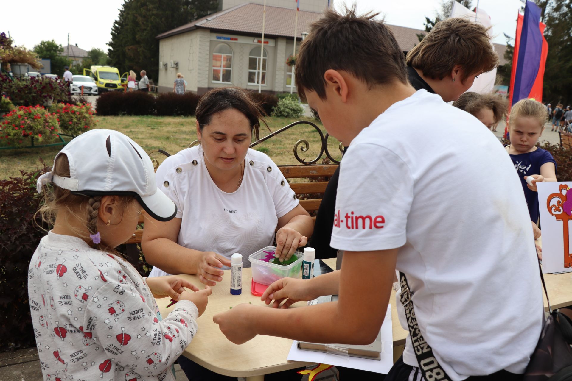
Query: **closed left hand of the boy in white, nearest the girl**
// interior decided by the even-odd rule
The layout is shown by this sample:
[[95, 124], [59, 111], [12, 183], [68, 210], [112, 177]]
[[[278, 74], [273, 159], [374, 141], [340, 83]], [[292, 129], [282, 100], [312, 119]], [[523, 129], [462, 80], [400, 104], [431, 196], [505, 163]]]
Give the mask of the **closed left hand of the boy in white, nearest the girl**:
[[252, 327], [252, 316], [256, 314], [256, 310], [260, 306], [242, 303], [232, 310], [220, 312], [213, 316], [213, 322], [219, 324], [220, 331], [223, 332], [227, 339], [235, 344], [243, 344], [256, 336], [256, 332]]

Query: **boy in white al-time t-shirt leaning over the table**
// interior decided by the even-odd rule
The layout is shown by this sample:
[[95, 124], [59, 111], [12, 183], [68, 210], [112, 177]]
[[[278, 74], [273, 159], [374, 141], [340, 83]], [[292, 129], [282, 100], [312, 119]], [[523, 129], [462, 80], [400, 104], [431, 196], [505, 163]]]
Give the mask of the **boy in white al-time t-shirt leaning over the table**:
[[[296, 61], [298, 91], [350, 146], [331, 240], [345, 251], [342, 270], [284, 278], [262, 296], [273, 307], [285, 300], [283, 308], [319, 295], [339, 300], [292, 310], [240, 304], [213, 319], [239, 344], [257, 334], [371, 343], [398, 270], [400, 322], [413, 337], [386, 380], [521, 379], [543, 306], [519, 179], [478, 119], [415, 92], [394, 36], [373, 17], [326, 11]], [[444, 80], [462, 90], [480, 71], [455, 66]], [[422, 120], [408, 118], [411, 110]]]

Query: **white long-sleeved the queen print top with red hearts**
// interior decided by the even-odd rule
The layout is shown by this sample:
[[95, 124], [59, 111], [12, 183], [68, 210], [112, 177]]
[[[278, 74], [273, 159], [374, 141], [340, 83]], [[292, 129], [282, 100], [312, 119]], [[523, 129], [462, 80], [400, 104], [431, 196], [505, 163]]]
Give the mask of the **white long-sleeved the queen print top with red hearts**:
[[170, 366], [197, 332], [194, 303], [157, 319], [131, 264], [73, 236], [42, 238], [28, 293], [45, 380], [174, 380]]

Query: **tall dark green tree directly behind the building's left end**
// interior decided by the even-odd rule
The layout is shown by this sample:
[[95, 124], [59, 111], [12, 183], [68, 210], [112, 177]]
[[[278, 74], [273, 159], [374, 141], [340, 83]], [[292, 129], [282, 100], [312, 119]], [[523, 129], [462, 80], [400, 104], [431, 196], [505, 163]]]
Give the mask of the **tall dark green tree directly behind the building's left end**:
[[125, 0], [113, 23], [108, 51], [110, 63], [121, 72], [145, 70], [157, 81], [158, 34], [209, 15], [218, 9], [217, 0]]

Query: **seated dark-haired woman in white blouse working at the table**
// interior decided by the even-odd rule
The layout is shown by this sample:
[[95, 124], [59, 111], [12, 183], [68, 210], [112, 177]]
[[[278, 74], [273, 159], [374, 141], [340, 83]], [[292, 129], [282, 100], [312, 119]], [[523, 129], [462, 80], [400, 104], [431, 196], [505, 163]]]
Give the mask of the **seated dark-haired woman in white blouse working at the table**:
[[[248, 255], [271, 246], [276, 236], [277, 254], [289, 258], [305, 246], [313, 222], [276, 164], [249, 148], [264, 118], [247, 91], [210, 90], [198, 102], [196, 119], [200, 145], [166, 158], [155, 175], [177, 214], [145, 223], [141, 244], [155, 266], [150, 276], [197, 274], [214, 286], [233, 253], [250, 267]], [[191, 380], [219, 376], [194, 363], [188, 374], [190, 360], [181, 359]]]

